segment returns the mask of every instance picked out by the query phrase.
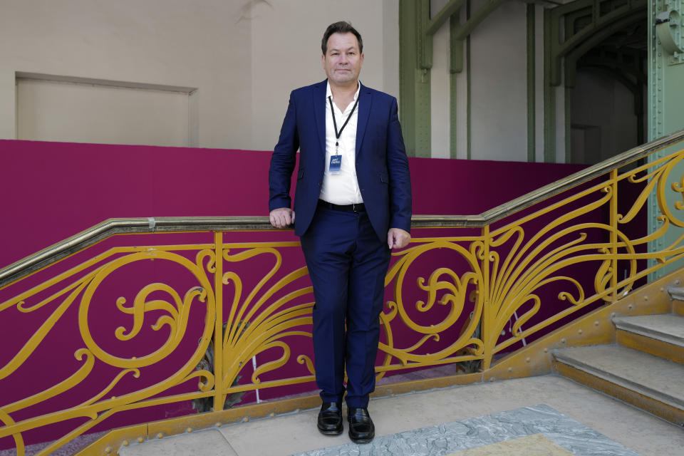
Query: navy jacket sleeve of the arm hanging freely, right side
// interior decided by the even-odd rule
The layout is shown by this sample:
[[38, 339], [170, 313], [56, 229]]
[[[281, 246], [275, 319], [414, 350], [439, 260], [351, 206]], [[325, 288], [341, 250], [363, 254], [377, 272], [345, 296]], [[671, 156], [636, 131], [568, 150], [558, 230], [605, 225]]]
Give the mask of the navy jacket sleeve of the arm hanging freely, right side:
[[390, 228], [411, 229], [411, 180], [399, 124], [397, 100], [390, 107], [387, 131], [387, 169], [390, 175]]

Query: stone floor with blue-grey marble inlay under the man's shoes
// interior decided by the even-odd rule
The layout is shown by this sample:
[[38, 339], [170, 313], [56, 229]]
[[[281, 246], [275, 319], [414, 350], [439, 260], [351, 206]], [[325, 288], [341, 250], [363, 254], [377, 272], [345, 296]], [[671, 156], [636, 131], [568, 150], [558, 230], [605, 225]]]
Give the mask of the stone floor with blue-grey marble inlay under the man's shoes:
[[122, 447], [120, 455], [684, 456], [684, 430], [558, 375], [374, 398], [373, 443], [316, 430], [318, 410]]

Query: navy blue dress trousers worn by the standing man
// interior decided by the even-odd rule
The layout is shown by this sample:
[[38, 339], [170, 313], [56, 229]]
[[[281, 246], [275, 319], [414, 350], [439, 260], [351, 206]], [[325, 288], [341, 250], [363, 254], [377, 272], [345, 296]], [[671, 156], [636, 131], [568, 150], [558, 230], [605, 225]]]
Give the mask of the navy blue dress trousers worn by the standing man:
[[346, 390], [349, 407], [367, 407], [375, 389], [390, 249], [385, 239], [378, 239], [366, 212], [321, 206], [301, 237], [301, 247], [316, 299], [314, 363], [321, 399], [339, 403]]

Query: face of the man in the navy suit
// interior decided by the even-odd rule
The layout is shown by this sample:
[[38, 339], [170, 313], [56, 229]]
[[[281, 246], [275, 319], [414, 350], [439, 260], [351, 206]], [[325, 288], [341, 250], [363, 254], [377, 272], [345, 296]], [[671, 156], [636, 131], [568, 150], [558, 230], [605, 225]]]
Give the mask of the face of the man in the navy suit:
[[338, 85], [355, 83], [361, 73], [363, 54], [353, 33], [333, 33], [328, 38], [328, 51], [323, 58], [323, 69], [328, 81]]

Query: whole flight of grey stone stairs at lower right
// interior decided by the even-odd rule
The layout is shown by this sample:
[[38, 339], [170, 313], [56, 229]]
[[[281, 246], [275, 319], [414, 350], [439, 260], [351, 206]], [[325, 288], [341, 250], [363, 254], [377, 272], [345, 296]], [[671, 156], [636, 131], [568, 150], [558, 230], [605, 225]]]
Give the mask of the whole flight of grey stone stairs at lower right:
[[684, 288], [673, 313], [615, 316], [616, 343], [554, 351], [567, 378], [684, 426]]

